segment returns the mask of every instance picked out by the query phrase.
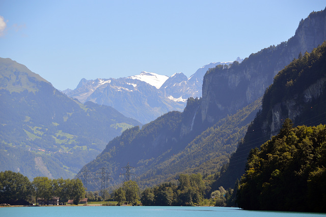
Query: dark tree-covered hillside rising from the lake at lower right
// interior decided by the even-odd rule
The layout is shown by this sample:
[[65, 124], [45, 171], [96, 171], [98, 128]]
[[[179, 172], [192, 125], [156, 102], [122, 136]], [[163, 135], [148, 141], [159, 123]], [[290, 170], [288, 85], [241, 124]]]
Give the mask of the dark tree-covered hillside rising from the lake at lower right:
[[239, 207], [325, 212], [325, 132], [326, 125], [292, 128], [286, 119], [279, 134], [250, 152], [237, 191]]

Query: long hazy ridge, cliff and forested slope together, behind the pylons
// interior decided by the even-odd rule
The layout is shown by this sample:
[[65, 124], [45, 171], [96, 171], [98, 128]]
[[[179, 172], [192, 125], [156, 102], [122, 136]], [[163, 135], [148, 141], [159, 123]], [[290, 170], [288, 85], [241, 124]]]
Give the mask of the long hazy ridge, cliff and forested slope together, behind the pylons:
[[[222, 165], [228, 162], [229, 156], [238, 153], [232, 154], [239, 150], [237, 146], [242, 146], [238, 141], [242, 141], [247, 128], [249, 127], [247, 134], [255, 132], [250, 123], [259, 111], [261, 97], [278, 77], [278, 72], [326, 39], [325, 20], [325, 10], [313, 12], [299, 23], [295, 35], [286, 42], [253, 53], [241, 63], [235, 61], [209, 69], [203, 79], [201, 99], [189, 98], [182, 113], [170, 112], [141, 129], [124, 131], [120, 137], [108, 143], [104, 151], [78, 175], [83, 176], [83, 171], [87, 170], [94, 174], [99, 172], [99, 168], [105, 167], [116, 174], [118, 179], [118, 171], [129, 162], [135, 167], [135, 179], [144, 187], [176, 179], [180, 173], [204, 172], [210, 175], [220, 171]], [[312, 77], [315, 78], [314, 75]], [[315, 88], [322, 87], [315, 85]], [[295, 94], [289, 97], [294, 96]], [[289, 103], [301, 102], [294, 100]], [[297, 118], [290, 112], [284, 114]], [[268, 121], [262, 122], [265, 124], [264, 130], [273, 129], [277, 132], [280, 129], [283, 118], [277, 115], [275, 117], [271, 125]], [[259, 134], [257, 135], [254, 138], [259, 139]], [[271, 135], [273, 133], [267, 133], [265, 139]], [[243, 161], [250, 148], [246, 151], [239, 154]], [[231, 157], [231, 161], [232, 159]], [[244, 173], [243, 165], [233, 166], [242, 172], [233, 172], [234, 167], [229, 167], [229, 172], [224, 175], [221, 172], [226, 177], [223, 182], [226, 187], [233, 187], [236, 178]], [[216, 183], [221, 184], [222, 181]]]

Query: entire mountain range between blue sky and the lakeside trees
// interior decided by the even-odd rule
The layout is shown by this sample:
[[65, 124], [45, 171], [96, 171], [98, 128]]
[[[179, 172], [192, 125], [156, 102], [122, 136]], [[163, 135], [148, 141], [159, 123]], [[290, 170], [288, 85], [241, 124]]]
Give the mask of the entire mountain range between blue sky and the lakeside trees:
[[[324, 115], [324, 71], [309, 68], [325, 64], [313, 56], [324, 57], [313, 49], [326, 40], [325, 20], [325, 10], [313, 12], [286, 42], [243, 61], [209, 64], [189, 78], [142, 72], [82, 79], [64, 93], [25, 66], [0, 59], [0, 170], [85, 178], [106, 168], [119, 182], [129, 162], [142, 188], [197, 172], [215, 174], [215, 187], [232, 187], [250, 149], [275, 135], [286, 117], [296, 124], [323, 120], [316, 115]], [[295, 59], [307, 61], [295, 68]], [[98, 185], [89, 180], [89, 189]]]

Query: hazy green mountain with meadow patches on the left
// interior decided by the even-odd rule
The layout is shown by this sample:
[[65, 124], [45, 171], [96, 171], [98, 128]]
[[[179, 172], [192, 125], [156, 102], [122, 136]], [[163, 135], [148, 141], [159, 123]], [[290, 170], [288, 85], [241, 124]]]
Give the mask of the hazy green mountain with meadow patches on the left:
[[112, 107], [73, 100], [38, 74], [0, 58], [0, 171], [72, 178], [124, 129]]

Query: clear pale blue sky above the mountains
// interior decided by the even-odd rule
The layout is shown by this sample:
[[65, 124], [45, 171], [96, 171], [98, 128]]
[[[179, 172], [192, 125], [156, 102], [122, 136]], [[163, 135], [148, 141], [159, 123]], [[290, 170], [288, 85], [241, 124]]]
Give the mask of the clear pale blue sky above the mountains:
[[288, 40], [326, 1], [0, 0], [0, 57], [59, 89], [141, 71], [192, 75]]

